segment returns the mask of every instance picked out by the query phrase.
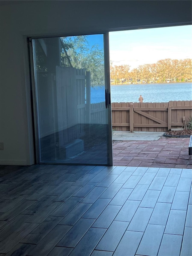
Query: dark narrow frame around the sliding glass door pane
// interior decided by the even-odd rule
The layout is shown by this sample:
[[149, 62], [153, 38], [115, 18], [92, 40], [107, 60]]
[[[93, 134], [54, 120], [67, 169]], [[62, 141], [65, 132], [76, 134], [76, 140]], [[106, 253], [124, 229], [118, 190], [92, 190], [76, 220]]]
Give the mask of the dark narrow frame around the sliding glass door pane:
[[[37, 89], [36, 89], [36, 74], [34, 69], [34, 50], [33, 50], [33, 39], [35, 38], [48, 38], [48, 37], [65, 37], [65, 36], [81, 36], [81, 35], [103, 35], [104, 38], [104, 75], [105, 75], [105, 89], [107, 89], [107, 108], [108, 108], [108, 138], [107, 138], [107, 155], [109, 156], [108, 166], [113, 166], [113, 147], [112, 147], [112, 110], [110, 103], [110, 57], [109, 57], [109, 32], [92, 32], [85, 34], [60, 34], [60, 35], [38, 35], [27, 37], [28, 52], [29, 52], [29, 72], [31, 81], [31, 107], [32, 107], [32, 125], [33, 125], [33, 143], [34, 143], [34, 156], [35, 164], [40, 163], [40, 151], [39, 151], [39, 140], [38, 140], [38, 101], [37, 101]], [[76, 163], [46, 163], [46, 164], [63, 164], [63, 165], [80, 165]], [[85, 163], [83, 163], [85, 165]], [[95, 164], [88, 164], [95, 165]], [[103, 165], [103, 164], [97, 164]]]

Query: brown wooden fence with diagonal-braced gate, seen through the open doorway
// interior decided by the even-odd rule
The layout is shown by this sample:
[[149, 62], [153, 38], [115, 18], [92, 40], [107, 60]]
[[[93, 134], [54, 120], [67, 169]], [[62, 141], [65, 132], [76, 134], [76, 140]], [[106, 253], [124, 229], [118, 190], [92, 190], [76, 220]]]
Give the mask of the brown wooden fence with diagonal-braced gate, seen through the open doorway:
[[112, 103], [112, 123], [116, 131], [167, 131], [183, 126], [192, 115], [192, 101], [161, 103]]

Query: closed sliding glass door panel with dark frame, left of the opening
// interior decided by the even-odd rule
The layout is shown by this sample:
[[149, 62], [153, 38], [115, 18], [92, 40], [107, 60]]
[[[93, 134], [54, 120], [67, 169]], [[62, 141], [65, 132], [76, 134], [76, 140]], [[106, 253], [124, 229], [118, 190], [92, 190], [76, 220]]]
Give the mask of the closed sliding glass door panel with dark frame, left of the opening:
[[32, 47], [38, 162], [112, 165], [108, 35]]

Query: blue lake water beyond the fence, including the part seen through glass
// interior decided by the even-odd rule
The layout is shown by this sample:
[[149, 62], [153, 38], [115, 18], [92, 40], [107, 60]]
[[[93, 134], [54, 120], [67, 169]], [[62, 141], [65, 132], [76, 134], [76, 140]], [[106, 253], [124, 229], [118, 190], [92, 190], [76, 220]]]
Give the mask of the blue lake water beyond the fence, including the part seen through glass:
[[[111, 102], [139, 102], [140, 94], [143, 102], [168, 102], [192, 100], [192, 84], [185, 83], [154, 83], [112, 85]], [[105, 101], [105, 88], [91, 88], [91, 103]]]

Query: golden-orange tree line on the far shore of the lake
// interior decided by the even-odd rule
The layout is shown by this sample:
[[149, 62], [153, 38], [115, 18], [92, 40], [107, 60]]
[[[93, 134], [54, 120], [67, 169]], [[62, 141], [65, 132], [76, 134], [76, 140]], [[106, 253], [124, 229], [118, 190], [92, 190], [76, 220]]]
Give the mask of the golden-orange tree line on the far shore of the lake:
[[110, 63], [111, 84], [166, 83], [192, 80], [191, 59], [162, 59], [130, 70], [130, 65], [113, 66]]

